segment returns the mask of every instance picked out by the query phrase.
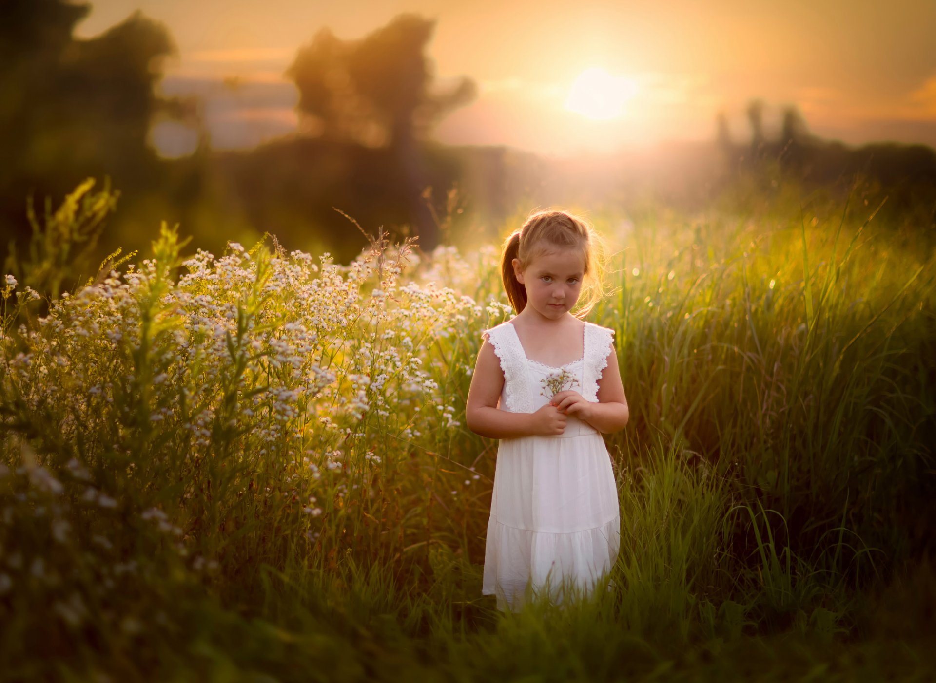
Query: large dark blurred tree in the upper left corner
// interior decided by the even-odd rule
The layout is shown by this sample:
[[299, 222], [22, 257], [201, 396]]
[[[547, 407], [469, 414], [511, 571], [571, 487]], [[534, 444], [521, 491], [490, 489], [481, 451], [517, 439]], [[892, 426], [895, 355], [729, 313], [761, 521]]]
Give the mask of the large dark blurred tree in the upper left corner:
[[27, 196], [64, 194], [88, 176], [110, 176], [124, 190], [156, 182], [151, 121], [190, 110], [154, 93], [175, 51], [165, 26], [138, 11], [100, 36], [76, 39], [89, 10], [65, 0], [3, 3], [0, 225], [21, 243], [30, 233]]

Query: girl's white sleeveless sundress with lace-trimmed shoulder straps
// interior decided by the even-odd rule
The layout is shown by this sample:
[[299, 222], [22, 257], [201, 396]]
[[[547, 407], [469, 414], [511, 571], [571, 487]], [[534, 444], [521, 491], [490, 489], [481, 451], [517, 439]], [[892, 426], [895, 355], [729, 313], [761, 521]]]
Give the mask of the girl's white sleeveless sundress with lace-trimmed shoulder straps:
[[[614, 331], [585, 323], [584, 355], [562, 368], [530, 360], [506, 322], [482, 333], [504, 371], [499, 407], [535, 413], [549, 400], [541, 380], [568, 371], [586, 400], [598, 400]], [[563, 434], [501, 439], [484, 557], [481, 592], [497, 607], [519, 611], [528, 582], [534, 591], [558, 589], [568, 580], [583, 592], [606, 573], [621, 545], [621, 512], [610, 456], [601, 433], [573, 415]], [[555, 602], [562, 602], [561, 595]]]

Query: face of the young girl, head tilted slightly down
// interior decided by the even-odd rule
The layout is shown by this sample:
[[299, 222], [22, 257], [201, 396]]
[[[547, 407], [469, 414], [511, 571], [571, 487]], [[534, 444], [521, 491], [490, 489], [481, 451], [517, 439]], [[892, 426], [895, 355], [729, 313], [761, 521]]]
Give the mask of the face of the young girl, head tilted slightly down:
[[527, 306], [543, 317], [558, 319], [576, 305], [585, 275], [585, 259], [578, 249], [554, 248], [522, 270], [519, 259], [512, 264], [517, 282], [527, 290]]

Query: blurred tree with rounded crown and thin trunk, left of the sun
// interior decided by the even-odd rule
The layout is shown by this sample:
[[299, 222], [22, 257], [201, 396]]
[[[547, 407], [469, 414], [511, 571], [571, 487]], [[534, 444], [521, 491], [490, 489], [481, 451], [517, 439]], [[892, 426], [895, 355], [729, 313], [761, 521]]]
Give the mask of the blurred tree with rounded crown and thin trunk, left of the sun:
[[286, 71], [299, 89], [300, 121], [307, 132], [387, 147], [394, 154], [419, 246], [426, 250], [439, 236], [423, 198], [427, 173], [419, 143], [449, 111], [476, 94], [468, 78], [446, 91], [432, 87], [424, 52], [434, 27], [434, 20], [401, 14], [358, 40], [342, 40], [323, 29]]

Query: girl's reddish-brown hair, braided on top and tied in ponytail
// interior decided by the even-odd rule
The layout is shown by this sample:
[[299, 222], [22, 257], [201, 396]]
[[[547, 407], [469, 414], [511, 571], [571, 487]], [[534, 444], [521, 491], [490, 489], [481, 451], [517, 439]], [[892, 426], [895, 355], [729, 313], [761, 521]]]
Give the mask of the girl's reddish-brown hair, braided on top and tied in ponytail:
[[513, 259], [519, 259], [522, 270], [536, 256], [556, 250], [578, 250], [585, 261], [578, 311], [574, 313], [576, 317], [584, 318], [605, 296], [607, 248], [592, 225], [568, 211], [535, 211], [519, 230], [514, 230], [504, 241], [501, 255], [501, 278], [514, 311], [519, 313], [526, 307], [527, 297], [526, 288], [514, 274]]

